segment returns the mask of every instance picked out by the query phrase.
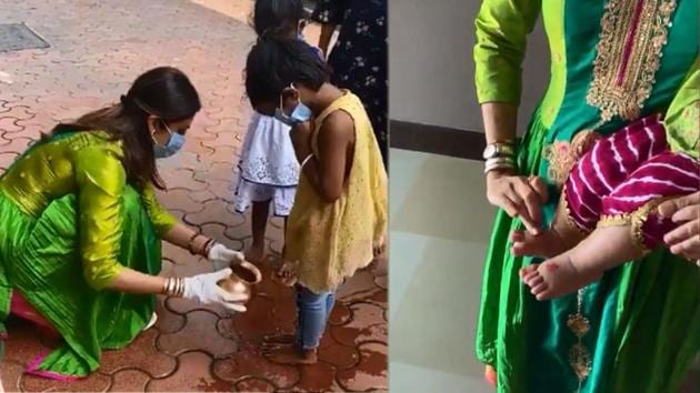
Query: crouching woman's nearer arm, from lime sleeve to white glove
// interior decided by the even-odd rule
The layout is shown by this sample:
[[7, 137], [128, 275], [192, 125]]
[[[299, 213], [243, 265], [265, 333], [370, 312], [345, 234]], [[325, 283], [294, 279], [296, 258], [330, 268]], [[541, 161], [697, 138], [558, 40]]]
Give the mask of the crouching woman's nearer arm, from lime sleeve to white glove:
[[114, 152], [100, 145], [79, 150], [73, 165], [80, 212], [80, 255], [88, 285], [97, 291], [166, 293], [204, 303], [218, 302], [234, 311], [244, 310], [241, 304], [230, 302], [243, 302], [247, 296], [226, 293], [217, 285], [231, 274], [230, 269], [187, 279], [164, 279], [119, 263], [127, 192], [124, 168]]

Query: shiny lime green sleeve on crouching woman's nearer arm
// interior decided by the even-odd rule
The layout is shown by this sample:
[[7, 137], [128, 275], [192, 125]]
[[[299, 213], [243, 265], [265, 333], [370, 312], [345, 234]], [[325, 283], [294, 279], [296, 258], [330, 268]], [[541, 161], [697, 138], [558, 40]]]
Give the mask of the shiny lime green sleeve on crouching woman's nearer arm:
[[117, 261], [122, 231], [126, 171], [116, 153], [99, 145], [76, 153], [83, 275], [104, 289], [124, 268]]

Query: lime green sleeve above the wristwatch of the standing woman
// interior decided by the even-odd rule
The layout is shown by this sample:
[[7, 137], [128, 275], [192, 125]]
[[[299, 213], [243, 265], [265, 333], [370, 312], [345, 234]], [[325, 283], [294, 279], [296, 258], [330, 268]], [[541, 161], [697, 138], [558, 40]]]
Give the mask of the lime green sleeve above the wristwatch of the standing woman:
[[542, 0], [483, 0], [477, 14], [474, 46], [479, 103], [519, 103], [527, 37]]

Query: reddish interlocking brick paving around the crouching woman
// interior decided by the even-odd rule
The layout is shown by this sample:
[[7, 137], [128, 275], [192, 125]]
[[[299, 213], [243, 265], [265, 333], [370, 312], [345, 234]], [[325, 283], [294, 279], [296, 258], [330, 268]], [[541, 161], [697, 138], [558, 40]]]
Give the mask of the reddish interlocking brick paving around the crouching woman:
[[[51, 46], [0, 53], [0, 172], [56, 122], [116, 102], [142, 71], [174, 66], [200, 91], [203, 110], [184, 152], [161, 162], [169, 191], [160, 199], [184, 222], [231, 248], [250, 243], [249, 218], [236, 214], [229, 202], [250, 115], [242, 68], [254, 41], [247, 24], [251, 1], [0, 0], [0, 23], [24, 22]], [[261, 266], [266, 276], [278, 259], [281, 226], [274, 220], [269, 225], [270, 258]], [[163, 274], [211, 269], [187, 251], [163, 250]], [[4, 389], [384, 391], [387, 278], [378, 272], [368, 269], [344, 284], [316, 365], [278, 365], [262, 356], [262, 336], [289, 331], [294, 318], [292, 291], [266, 280], [244, 314], [159, 299], [152, 330], [126, 350], [106, 352], [97, 373], [73, 383], [22, 374], [54, 341], [11, 320], [0, 366]]]

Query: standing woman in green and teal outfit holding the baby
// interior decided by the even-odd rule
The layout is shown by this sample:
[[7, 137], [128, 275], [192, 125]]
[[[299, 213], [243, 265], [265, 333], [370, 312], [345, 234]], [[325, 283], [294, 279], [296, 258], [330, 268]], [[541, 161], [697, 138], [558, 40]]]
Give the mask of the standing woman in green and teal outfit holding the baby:
[[503, 209], [487, 255], [477, 355], [494, 370], [498, 392], [669, 393], [686, 377], [700, 349], [697, 266], [657, 250], [576, 295], [538, 302], [518, 271], [541, 260], [513, 256], [509, 236], [551, 222], [570, 168], [551, 152], [578, 132], [606, 134], [662, 113], [671, 147], [698, 155], [699, 11], [697, 0], [483, 1], [474, 59], [487, 143], [516, 139], [521, 62], [540, 14], [551, 51], [550, 84], [516, 168], [487, 174], [489, 201]]

